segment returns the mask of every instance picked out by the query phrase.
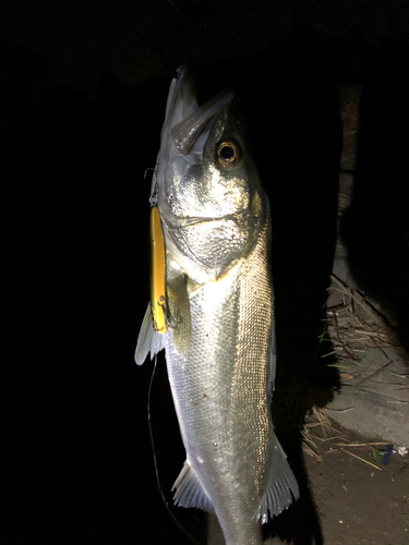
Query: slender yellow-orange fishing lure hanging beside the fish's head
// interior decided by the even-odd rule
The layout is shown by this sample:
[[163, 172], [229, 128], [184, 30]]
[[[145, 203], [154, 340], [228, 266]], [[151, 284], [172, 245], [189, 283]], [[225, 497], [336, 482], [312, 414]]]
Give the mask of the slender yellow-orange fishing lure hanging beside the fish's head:
[[166, 320], [165, 242], [159, 210], [151, 209], [151, 311], [158, 334], [168, 330]]

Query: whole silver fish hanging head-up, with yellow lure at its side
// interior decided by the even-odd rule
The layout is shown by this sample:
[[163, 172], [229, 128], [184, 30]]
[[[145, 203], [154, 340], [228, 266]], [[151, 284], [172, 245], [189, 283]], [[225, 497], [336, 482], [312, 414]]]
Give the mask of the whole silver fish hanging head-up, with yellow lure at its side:
[[163, 349], [187, 460], [173, 501], [216, 514], [227, 545], [299, 498], [270, 404], [276, 371], [269, 203], [240, 105], [173, 77], [151, 190], [152, 282], [135, 361]]

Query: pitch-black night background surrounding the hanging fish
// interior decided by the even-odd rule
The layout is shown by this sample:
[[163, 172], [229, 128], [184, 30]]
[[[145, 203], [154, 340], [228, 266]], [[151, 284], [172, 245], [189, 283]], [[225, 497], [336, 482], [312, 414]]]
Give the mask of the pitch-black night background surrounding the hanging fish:
[[[338, 387], [321, 360], [336, 235], [337, 88], [362, 83], [342, 223], [362, 289], [407, 342], [405, 2], [0, 1], [0, 544], [190, 543], [157, 486], [153, 365], [133, 352], [148, 301], [148, 196], [170, 74], [230, 84], [274, 226], [274, 419], [302, 496], [266, 532], [322, 542], [303, 415]], [[329, 359], [325, 364], [330, 364]], [[151, 412], [165, 496], [184, 461], [163, 358]], [[205, 517], [173, 509], [204, 543]]]

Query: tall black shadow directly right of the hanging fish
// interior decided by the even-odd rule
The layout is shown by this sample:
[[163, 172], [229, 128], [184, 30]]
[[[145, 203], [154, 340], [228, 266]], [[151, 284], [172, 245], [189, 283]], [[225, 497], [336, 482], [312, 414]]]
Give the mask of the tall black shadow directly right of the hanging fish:
[[[302, 51], [302, 52], [300, 52]], [[340, 387], [324, 332], [336, 239], [341, 125], [336, 65], [330, 55], [298, 43], [275, 51], [273, 84], [261, 104], [270, 109], [256, 142], [258, 168], [273, 218], [273, 279], [277, 332], [273, 420], [300, 486], [300, 499], [265, 535], [297, 545], [322, 544], [318, 514], [303, 464], [305, 413], [325, 407]], [[264, 150], [258, 142], [267, 142]]]

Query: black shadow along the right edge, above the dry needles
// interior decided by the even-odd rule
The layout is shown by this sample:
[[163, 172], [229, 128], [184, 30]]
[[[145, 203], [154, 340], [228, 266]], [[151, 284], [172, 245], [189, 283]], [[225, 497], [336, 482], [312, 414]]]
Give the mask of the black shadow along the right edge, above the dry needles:
[[360, 289], [409, 349], [409, 48], [389, 44], [363, 81], [353, 196], [341, 220]]

